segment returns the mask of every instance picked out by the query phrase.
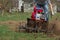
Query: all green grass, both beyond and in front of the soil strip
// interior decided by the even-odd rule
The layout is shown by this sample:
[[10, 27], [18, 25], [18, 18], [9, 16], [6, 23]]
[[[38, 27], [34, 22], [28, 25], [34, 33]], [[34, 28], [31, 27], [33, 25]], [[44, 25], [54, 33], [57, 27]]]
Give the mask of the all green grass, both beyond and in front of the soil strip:
[[[0, 22], [5, 21], [26, 21], [27, 17], [30, 17], [31, 13], [5, 13], [4, 16], [0, 15]], [[60, 13], [53, 16], [52, 20], [58, 17], [60, 18]], [[51, 18], [50, 18], [51, 19]], [[59, 19], [60, 20], [60, 19]], [[14, 32], [9, 29], [9, 25], [0, 24], [0, 40], [59, 40], [59, 37], [48, 37], [43, 33], [20, 33]]]

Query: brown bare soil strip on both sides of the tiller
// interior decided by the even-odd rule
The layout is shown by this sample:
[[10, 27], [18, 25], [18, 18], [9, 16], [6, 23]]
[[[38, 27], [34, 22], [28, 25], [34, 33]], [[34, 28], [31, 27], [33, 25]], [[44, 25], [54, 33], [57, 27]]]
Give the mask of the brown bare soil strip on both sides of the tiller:
[[[18, 27], [21, 25], [25, 26], [26, 21], [4, 21], [0, 22], [0, 25], [1, 24], [8, 25], [8, 28], [11, 31], [18, 31]], [[53, 31], [57, 35], [60, 35], [60, 21], [59, 20], [51, 21], [48, 25], [48, 31], [49, 30]]]

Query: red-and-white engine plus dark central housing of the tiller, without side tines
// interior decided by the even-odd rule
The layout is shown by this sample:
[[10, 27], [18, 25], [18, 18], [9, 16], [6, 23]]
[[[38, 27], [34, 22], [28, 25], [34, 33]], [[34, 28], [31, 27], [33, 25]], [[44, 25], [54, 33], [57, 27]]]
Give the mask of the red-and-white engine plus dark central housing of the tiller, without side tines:
[[34, 7], [31, 18], [27, 18], [28, 32], [47, 32], [48, 21], [45, 21], [44, 9]]

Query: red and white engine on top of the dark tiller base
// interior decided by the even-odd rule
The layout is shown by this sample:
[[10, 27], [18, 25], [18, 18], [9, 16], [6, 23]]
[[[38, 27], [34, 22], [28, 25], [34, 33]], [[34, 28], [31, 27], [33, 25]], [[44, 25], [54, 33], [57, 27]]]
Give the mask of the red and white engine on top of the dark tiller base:
[[44, 20], [44, 9], [42, 7], [37, 8], [36, 6], [34, 7], [34, 11], [32, 12], [31, 16], [32, 20]]

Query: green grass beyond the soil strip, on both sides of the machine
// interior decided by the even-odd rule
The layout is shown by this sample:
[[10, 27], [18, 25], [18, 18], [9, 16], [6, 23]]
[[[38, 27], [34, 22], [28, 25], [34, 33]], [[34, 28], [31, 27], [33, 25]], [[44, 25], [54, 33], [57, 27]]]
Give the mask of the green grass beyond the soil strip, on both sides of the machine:
[[[0, 14], [0, 21], [8, 21], [8, 20], [14, 20], [14, 21], [22, 20], [22, 21], [26, 21], [26, 19], [30, 18], [30, 16], [31, 16], [31, 12], [30, 13], [27, 13], [27, 12], [25, 12], [25, 13], [13, 12], [12, 14], [9, 14], [9, 13], [6, 12], [6, 13], [4, 13], [4, 16], [2, 16]], [[52, 16], [52, 18], [50, 16], [49, 20], [51, 20], [51, 19], [54, 20], [56, 17], [59, 19], [60, 18], [60, 13], [55, 14], [54, 16]]]

